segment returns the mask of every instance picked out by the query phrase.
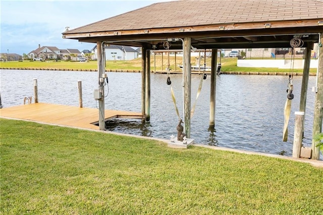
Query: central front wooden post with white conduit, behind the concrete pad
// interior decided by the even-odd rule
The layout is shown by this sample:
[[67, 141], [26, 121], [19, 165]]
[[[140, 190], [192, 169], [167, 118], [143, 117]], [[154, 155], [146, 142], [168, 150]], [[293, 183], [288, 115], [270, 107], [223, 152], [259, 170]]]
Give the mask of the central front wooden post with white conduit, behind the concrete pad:
[[183, 105], [184, 127], [187, 138], [191, 137], [191, 38], [184, 38], [183, 50]]

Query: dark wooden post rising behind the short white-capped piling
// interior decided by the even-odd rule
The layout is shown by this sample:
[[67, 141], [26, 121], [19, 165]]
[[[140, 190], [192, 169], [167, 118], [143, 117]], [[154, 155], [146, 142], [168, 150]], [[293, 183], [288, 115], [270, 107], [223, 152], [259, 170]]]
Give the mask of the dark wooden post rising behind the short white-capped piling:
[[[306, 110], [306, 97], [307, 97], [307, 87], [308, 87], [308, 76], [309, 76], [309, 64], [311, 61], [311, 50], [313, 49], [313, 43], [309, 43], [305, 50], [305, 60], [304, 60], [304, 69], [302, 77], [302, 88], [301, 88], [301, 97], [299, 102], [299, 111], [304, 112]], [[304, 115], [305, 122], [305, 115]], [[303, 126], [304, 129], [304, 126]], [[304, 135], [304, 130], [302, 131]]]

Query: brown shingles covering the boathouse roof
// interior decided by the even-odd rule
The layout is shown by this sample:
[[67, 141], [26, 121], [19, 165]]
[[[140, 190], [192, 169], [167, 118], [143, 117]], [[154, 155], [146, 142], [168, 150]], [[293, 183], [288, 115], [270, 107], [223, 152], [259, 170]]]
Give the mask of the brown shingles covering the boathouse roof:
[[323, 18], [323, 0], [180, 0], [156, 3], [65, 33]]

